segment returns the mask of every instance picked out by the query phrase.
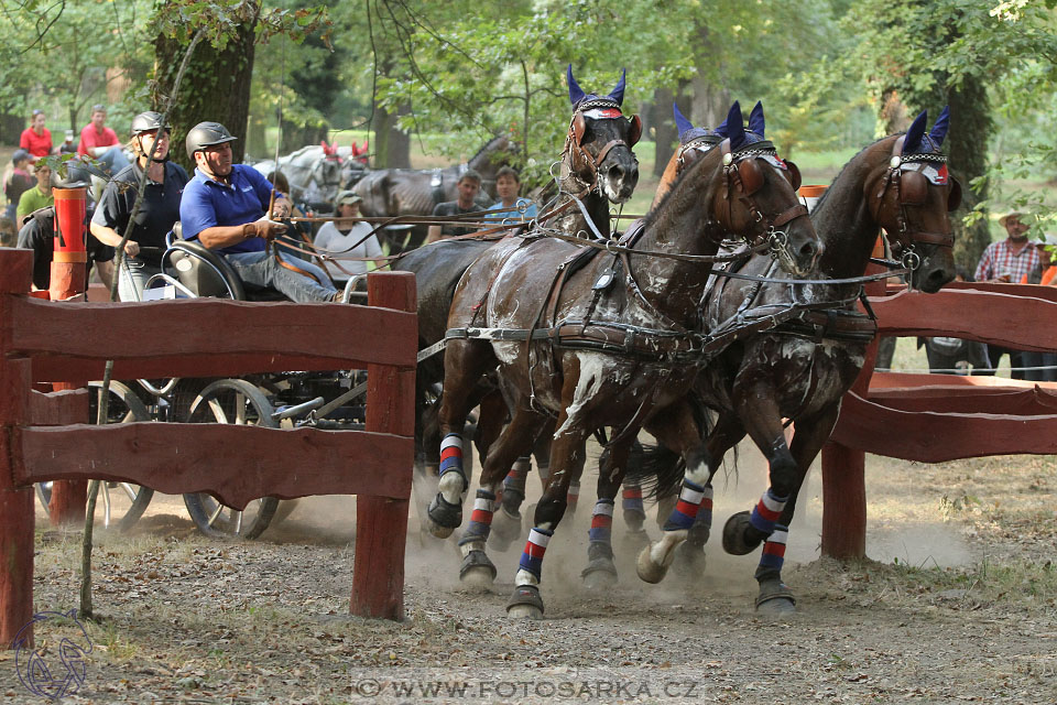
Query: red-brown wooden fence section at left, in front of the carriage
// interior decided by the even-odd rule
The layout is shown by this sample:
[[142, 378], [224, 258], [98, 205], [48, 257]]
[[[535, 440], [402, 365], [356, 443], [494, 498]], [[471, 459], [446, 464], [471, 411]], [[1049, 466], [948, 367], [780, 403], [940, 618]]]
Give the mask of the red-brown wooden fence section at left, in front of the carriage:
[[[368, 306], [218, 300], [53, 303], [28, 296], [32, 253], [0, 248], [0, 642], [33, 615], [32, 484], [124, 480], [250, 500], [358, 495], [351, 609], [403, 616], [414, 462], [415, 280], [370, 274]], [[84, 390], [37, 382], [367, 369], [367, 430], [88, 425]], [[75, 424], [75, 425], [70, 425]]]

